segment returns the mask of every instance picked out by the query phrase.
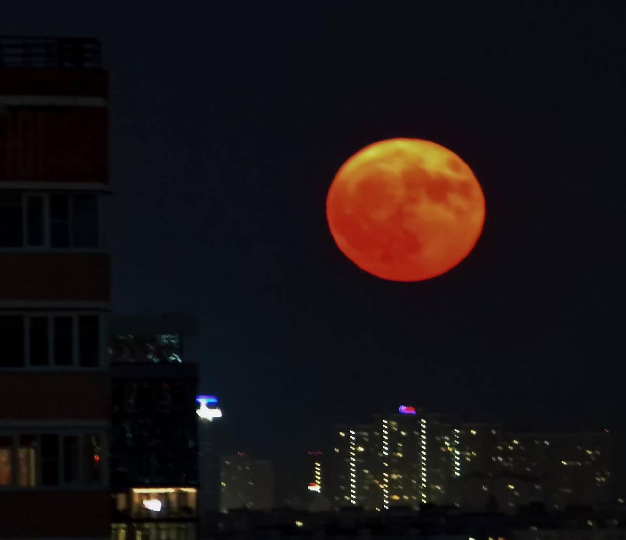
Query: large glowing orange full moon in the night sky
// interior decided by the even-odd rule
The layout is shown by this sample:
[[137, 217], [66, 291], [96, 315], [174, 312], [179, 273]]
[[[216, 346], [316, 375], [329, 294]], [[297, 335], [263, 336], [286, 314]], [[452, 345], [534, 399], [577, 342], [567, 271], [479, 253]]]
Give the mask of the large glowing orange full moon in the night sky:
[[468, 165], [433, 142], [369, 145], [332, 180], [326, 215], [337, 246], [378, 278], [419, 281], [469, 254], [485, 222], [485, 197]]

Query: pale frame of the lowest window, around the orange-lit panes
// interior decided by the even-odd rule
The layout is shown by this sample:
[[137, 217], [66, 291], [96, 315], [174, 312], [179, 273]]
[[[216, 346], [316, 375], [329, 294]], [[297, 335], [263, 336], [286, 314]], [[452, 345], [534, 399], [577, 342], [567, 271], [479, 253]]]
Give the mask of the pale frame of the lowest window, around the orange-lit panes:
[[[19, 485], [18, 471], [18, 449], [19, 438], [22, 435], [34, 435], [35, 445], [35, 485]], [[58, 482], [56, 484], [43, 485], [41, 483], [42, 458], [41, 458], [41, 435], [56, 435], [58, 447], [58, 463], [57, 474]], [[100, 457], [100, 483], [93, 484], [86, 477], [85, 448], [86, 438], [90, 435], [98, 435], [101, 440], [102, 454]], [[106, 436], [106, 428], [101, 426], [80, 427], [80, 428], [18, 428], [18, 430], [0, 430], [0, 437], [11, 438], [13, 445], [11, 446], [11, 484], [0, 485], [0, 492], [6, 491], [59, 491], [59, 490], [102, 490], [108, 489], [108, 438]], [[78, 477], [75, 482], [65, 481], [64, 470], [64, 453], [63, 443], [66, 437], [78, 437]]]

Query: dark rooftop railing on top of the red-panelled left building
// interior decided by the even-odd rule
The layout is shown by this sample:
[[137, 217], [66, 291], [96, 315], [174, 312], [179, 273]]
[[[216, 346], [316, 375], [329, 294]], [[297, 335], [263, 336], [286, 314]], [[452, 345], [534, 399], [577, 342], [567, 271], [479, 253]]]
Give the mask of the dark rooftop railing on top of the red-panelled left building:
[[101, 65], [97, 39], [0, 36], [0, 68], [93, 69]]

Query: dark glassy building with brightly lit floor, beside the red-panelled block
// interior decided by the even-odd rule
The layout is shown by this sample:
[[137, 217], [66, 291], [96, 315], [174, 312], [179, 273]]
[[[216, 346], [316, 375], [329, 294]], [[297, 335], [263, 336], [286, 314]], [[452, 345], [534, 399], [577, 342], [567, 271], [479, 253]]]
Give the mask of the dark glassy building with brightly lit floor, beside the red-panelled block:
[[197, 365], [183, 361], [194, 333], [183, 316], [111, 320], [113, 540], [197, 536]]

